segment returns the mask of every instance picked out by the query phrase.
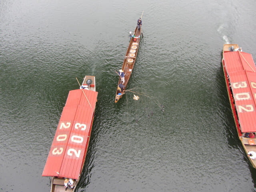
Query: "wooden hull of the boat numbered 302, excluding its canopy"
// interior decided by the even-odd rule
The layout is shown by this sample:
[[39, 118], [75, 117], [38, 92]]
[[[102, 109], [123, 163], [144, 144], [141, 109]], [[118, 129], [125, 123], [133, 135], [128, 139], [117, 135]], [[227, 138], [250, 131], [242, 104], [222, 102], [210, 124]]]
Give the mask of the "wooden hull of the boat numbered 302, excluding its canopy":
[[[228, 74], [227, 74], [227, 71], [226, 71], [226, 66], [225, 66], [225, 61], [224, 61], [224, 53], [225, 52], [230, 52], [230, 47], [231, 46], [234, 46], [234, 49], [236, 48], [239, 48], [239, 46], [237, 44], [224, 44], [223, 46], [223, 52], [222, 52], [222, 68], [223, 68], [223, 72], [224, 72], [224, 76], [225, 76], [225, 82], [226, 82], [226, 88], [227, 88], [227, 92], [228, 92], [228, 98], [229, 98], [229, 102], [230, 102], [230, 106], [231, 106], [231, 109], [232, 109], [232, 114], [233, 114], [233, 118], [234, 118], [234, 122], [236, 124], [236, 130], [237, 130], [237, 134], [238, 134], [238, 137], [242, 143], [242, 146], [244, 148], [244, 151], [246, 152], [246, 156], [248, 157], [249, 161], [251, 162], [252, 166], [254, 168], [256, 168], [256, 158], [255, 159], [252, 159], [250, 158], [247, 154], [248, 152], [256, 152], [256, 138], [244, 138], [242, 135], [243, 133], [241, 132], [241, 128], [240, 128], [240, 125], [239, 125], [239, 121], [238, 121], [238, 116], [237, 116], [237, 112], [236, 112], [236, 108], [234, 106], [234, 103], [233, 103], [233, 96], [232, 96], [232, 93], [231, 93], [231, 90], [230, 90], [230, 87], [229, 87], [229, 80], [228, 80]], [[250, 144], [250, 143], [255, 143], [255, 144]]]

